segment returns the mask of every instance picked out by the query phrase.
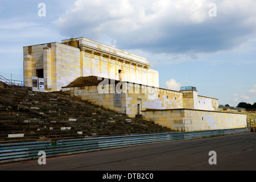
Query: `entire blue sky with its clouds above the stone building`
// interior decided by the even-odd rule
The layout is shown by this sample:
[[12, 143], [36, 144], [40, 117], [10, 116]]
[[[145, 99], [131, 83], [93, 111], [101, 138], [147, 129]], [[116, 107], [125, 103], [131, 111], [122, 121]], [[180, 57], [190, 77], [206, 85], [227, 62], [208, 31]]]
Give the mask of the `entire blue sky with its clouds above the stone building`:
[[254, 0], [1, 1], [0, 73], [23, 74], [23, 46], [83, 36], [146, 57], [161, 88], [253, 104], [255, 9]]

